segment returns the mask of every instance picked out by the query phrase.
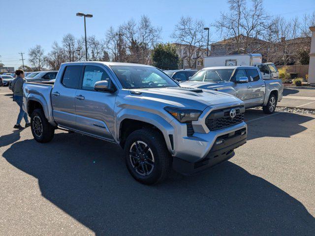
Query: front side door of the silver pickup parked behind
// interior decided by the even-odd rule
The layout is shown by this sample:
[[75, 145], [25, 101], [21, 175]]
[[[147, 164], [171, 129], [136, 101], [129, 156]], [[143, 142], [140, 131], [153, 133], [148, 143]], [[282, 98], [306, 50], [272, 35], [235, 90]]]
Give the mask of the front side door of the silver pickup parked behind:
[[[235, 82], [240, 77], [247, 77], [245, 69], [237, 69], [231, 81]], [[235, 96], [244, 101], [245, 106], [250, 106], [251, 99], [251, 83], [238, 84], [234, 83]]]

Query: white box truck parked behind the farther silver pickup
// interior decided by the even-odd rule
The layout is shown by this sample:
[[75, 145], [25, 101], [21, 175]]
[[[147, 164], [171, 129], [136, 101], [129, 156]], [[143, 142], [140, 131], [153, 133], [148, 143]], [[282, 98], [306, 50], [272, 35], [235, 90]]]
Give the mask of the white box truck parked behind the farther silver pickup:
[[262, 63], [261, 54], [209, 56], [204, 58], [204, 66], [257, 66], [264, 80], [279, 79], [279, 71], [275, 64], [272, 62]]

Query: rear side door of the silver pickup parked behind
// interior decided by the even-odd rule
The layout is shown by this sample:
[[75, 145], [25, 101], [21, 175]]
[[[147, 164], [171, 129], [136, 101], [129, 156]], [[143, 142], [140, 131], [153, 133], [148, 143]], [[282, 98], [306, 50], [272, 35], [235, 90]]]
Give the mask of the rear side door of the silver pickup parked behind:
[[265, 82], [259, 76], [256, 68], [246, 69], [247, 76], [251, 84], [250, 106], [261, 106], [265, 97]]

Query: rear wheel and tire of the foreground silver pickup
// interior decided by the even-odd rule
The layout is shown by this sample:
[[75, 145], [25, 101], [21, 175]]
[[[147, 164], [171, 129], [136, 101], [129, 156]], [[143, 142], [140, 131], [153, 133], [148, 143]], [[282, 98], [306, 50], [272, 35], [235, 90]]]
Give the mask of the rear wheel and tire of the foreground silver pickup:
[[32, 112], [31, 130], [34, 139], [39, 143], [48, 143], [54, 138], [55, 128], [48, 122], [41, 109]]

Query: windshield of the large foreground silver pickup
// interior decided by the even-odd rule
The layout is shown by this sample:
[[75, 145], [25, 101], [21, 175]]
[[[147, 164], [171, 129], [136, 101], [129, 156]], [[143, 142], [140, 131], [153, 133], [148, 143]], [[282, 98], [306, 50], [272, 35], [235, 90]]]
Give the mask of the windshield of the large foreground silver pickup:
[[111, 68], [125, 89], [178, 87], [171, 78], [155, 67], [112, 65]]

